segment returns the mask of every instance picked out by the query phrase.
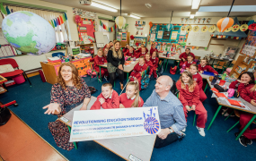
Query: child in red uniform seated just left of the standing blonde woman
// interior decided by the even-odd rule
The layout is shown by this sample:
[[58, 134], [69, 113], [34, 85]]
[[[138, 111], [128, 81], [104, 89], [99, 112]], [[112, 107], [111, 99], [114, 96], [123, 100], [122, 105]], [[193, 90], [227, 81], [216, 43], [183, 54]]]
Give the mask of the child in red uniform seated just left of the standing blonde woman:
[[[107, 59], [103, 56], [103, 53], [102, 53], [102, 49], [99, 49], [98, 50], [98, 55], [96, 55], [94, 57], [94, 70], [96, 72], [99, 72], [100, 73], [100, 68], [99, 68], [99, 65], [100, 64], [107, 64]], [[101, 73], [102, 74], [102, 78], [104, 77], [105, 80], [108, 81], [108, 76], [109, 76], [109, 72], [108, 72], [108, 69], [107, 68], [101, 68]], [[99, 76], [99, 80], [100, 80], [100, 76]], [[102, 80], [100, 80], [102, 81]]]

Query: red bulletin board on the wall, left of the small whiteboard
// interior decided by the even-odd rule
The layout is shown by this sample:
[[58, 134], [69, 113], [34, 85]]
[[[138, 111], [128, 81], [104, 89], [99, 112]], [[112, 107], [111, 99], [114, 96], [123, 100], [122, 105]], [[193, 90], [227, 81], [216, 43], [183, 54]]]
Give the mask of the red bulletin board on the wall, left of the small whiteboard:
[[77, 24], [78, 36], [80, 41], [84, 41], [84, 36], [87, 34], [88, 39], [93, 43], [95, 42], [95, 21], [92, 19], [82, 18], [81, 23]]

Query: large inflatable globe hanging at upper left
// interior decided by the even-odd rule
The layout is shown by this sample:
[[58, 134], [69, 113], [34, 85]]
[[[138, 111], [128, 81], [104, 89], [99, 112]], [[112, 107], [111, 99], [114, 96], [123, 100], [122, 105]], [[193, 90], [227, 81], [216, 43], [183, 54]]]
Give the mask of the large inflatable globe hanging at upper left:
[[18, 11], [6, 16], [2, 22], [4, 38], [22, 53], [41, 55], [56, 45], [53, 27], [39, 15]]

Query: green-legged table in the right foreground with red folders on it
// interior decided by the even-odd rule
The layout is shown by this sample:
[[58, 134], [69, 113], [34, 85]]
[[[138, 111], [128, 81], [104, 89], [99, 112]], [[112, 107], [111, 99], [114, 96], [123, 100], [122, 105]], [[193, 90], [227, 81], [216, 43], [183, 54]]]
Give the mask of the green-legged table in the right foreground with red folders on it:
[[[214, 88], [213, 85], [211, 85], [211, 81], [207, 79], [207, 83], [209, 85], [209, 87], [212, 89]], [[225, 82], [225, 85], [226, 86], [229, 86], [230, 82]], [[228, 108], [233, 108], [235, 110], [239, 110], [239, 111], [243, 111], [245, 113], [250, 113], [250, 114], [254, 114], [252, 116], [252, 119], [250, 120], [249, 123], [246, 124], [246, 126], [243, 128], [243, 131], [241, 131], [238, 136], [235, 138], [235, 140], [238, 140], [242, 135], [243, 135], [243, 132], [250, 126], [250, 124], [255, 120], [256, 118], [256, 106], [252, 106], [252, 104], [250, 104], [249, 102], [245, 101], [242, 97], [238, 97], [238, 98], [229, 98], [229, 99], [233, 99], [233, 100], [237, 100], [237, 101], [241, 101], [245, 106], [248, 106], [249, 109], [246, 109], [246, 108], [243, 108], [243, 107], [239, 107], [239, 106], [230, 106], [226, 101], [225, 99], [220, 99], [220, 98], [217, 98], [216, 97], [216, 101], [218, 103], [218, 108], [216, 110], [216, 114], [214, 115], [214, 117], [212, 118], [211, 122], [209, 123], [208, 127], [207, 127], [207, 130], [210, 129], [212, 123], [215, 121], [216, 119], [216, 115], [218, 114], [218, 112], [220, 111], [221, 107], [222, 106], [226, 106]]]

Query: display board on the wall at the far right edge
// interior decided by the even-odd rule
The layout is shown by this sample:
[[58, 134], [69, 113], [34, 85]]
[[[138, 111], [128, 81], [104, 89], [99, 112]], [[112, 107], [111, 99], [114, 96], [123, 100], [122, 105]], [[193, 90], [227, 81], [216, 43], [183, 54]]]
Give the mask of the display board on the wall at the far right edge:
[[240, 50], [240, 54], [248, 55], [250, 57], [256, 56], [256, 31], [250, 31], [246, 38], [243, 47]]

